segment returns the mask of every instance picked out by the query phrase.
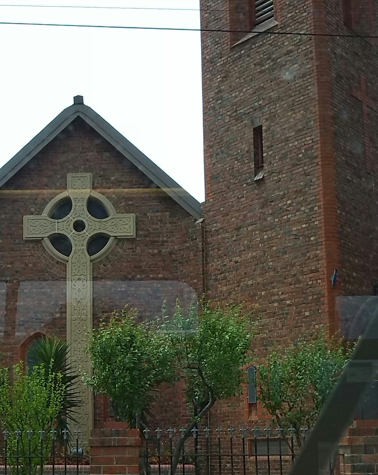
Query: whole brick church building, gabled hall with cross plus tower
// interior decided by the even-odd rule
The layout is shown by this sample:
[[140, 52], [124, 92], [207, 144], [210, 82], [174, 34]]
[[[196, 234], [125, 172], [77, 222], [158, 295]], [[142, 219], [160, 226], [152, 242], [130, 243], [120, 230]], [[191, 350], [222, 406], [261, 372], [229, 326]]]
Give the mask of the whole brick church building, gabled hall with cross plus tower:
[[[0, 169], [6, 364], [27, 360], [47, 334], [67, 338], [85, 368], [92, 318], [126, 303], [149, 316], [166, 299], [203, 294], [258, 305], [264, 355], [320, 324], [334, 333], [339, 297], [376, 293], [376, 2], [202, 0], [201, 9], [204, 203], [82, 96]], [[164, 427], [185, 418], [177, 394], [161, 395]], [[245, 389], [208, 422], [253, 427], [264, 417]], [[110, 418], [108, 401], [88, 393], [83, 427]]]

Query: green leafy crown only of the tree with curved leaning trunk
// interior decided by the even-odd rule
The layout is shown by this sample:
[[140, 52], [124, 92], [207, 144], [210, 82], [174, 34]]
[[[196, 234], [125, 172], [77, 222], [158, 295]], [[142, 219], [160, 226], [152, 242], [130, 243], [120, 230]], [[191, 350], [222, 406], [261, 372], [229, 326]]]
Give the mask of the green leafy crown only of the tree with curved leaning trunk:
[[[173, 323], [180, 328], [182, 321], [178, 306]], [[201, 409], [212, 399], [215, 402], [240, 392], [251, 328], [249, 316], [244, 316], [240, 307], [211, 309], [206, 304], [198, 315], [198, 331], [170, 332], [176, 364], [185, 375], [188, 403], [198, 401]]]

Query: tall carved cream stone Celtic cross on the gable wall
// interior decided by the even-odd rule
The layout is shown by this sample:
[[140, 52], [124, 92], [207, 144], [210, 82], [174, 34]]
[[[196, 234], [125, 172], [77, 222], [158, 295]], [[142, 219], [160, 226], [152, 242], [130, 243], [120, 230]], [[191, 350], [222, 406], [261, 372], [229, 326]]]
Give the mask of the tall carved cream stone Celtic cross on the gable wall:
[[[94, 218], [88, 211], [90, 197], [107, 210], [108, 217]], [[63, 200], [70, 199], [72, 208], [62, 219], [50, 218]], [[53, 235], [66, 236], [71, 244], [69, 256], [59, 255], [49, 242]], [[87, 245], [95, 235], [110, 237], [108, 244], [94, 259], [87, 252]], [[92, 190], [91, 173], [68, 173], [67, 191], [50, 201], [42, 215], [24, 216], [24, 239], [43, 239], [46, 249], [57, 259], [67, 263], [67, 342], [70, 343], [68, 364], [75, 372], [91, 374], [88, 355], [85, 353], [86, 332], [92, 329], [92, 261], [104, 257], [114, 244], [114, 237], [135, 237], [135, 215], [116, 214], [111, 203]], [[84, 407], [75, 418], [81, 430], [82, 442], [89, 439], [93, 427], [92, 393], [84, 383], [78, 383]]]

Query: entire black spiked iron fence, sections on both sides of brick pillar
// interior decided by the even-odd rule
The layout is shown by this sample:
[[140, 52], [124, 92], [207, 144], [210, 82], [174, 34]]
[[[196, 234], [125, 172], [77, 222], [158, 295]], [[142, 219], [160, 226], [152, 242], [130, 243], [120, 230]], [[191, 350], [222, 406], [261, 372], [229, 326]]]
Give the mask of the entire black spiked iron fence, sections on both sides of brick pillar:
[[[147, 475], [286, 475], [305, 442], [294, 429], [269, 427], [227, 430], [193, 428], [143, 431], [141, 474]], [[0, 475], [87, 475], [90, 458], [79, 446], [80, 430], [3, 431]], [[330, 464], [330, 475], [335, 463]]]

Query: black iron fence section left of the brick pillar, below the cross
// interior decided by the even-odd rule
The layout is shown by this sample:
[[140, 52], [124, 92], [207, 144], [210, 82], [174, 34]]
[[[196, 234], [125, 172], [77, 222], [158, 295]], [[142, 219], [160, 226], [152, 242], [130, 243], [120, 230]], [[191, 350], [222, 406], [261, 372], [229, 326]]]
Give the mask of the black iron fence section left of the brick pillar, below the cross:
[[90, 473], [89, 456], [79, 447], [80, 430], [70, 437], [68, 430], [58, 434], [28, 429], [3, 431], [1, 475], [84, 475]]

